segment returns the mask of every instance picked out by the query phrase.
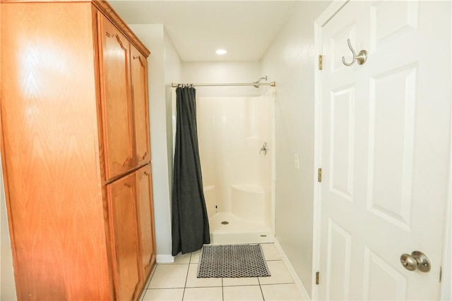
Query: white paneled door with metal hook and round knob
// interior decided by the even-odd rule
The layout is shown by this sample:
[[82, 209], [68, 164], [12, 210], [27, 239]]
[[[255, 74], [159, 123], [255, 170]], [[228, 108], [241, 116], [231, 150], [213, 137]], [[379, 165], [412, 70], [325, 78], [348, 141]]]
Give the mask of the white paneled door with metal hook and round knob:
[[[323, 300], [435, 300], [451, 163], [451, 2], [350, 1], [321, 30]], [[368, 52], [363, 65], [352, 61]], [[408, 271], [421, 251], [431, 270]]]

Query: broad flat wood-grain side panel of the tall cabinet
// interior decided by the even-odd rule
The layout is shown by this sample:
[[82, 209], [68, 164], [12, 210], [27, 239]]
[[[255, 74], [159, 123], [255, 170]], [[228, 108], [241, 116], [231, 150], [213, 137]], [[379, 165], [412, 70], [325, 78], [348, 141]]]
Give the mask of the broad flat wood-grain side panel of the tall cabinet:
[[91, 4], [1, 7], [2, 156], [19, 300], [110, 300]]

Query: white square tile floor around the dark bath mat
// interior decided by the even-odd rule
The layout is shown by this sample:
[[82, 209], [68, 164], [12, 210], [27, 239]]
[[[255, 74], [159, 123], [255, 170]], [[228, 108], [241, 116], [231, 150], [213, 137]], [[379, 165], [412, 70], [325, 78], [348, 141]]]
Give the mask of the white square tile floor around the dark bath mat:
[[275, 245], [261, 246], [269, 277], [196, 278], [200, 252], [179, 254], [174, 264], [155, 265], [141, 300], [302, 300]]

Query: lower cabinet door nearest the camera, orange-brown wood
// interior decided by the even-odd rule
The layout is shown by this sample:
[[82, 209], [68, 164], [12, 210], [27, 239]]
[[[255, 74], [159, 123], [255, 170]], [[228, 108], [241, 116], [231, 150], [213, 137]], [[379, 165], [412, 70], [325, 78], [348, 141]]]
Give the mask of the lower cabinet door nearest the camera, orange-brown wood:
[[136, 300], [141, 282], [135, 173], [107, 185], [117, 300]]

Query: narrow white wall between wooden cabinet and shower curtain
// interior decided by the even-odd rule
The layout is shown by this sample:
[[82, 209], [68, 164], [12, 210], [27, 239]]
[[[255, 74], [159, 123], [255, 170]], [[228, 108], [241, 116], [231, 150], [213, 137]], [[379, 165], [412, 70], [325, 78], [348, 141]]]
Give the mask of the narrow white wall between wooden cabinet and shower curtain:
[[[151, 51], [148, 58], [150, 140], [153, 172], [155, 245], [157, 262], [172, 260], [171, 181], [172, 111], [167, 97], [167, 80], [180, 78], [180, 59], [165, 35], [163, 25], [129, 25], [138, 39]], [[169, 120], [168, 120], [169, 118]]]

